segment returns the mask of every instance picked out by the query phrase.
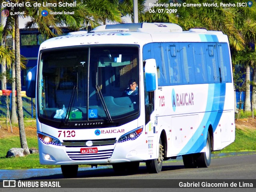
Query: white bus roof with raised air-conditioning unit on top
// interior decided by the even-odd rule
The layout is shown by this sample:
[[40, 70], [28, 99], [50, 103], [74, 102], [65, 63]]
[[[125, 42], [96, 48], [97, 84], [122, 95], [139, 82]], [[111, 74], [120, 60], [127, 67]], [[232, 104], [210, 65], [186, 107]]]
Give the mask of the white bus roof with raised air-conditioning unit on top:
[[66, 36], [51, 38], [43, 42], [40, 49], [66, 46], [130, 44], [150, 42], [227, 42], [228, 37], [220, 31], [190, 29], [182, 31], [172, 23], [129, 23], [102, 25], [87, 32], [73, 32]]

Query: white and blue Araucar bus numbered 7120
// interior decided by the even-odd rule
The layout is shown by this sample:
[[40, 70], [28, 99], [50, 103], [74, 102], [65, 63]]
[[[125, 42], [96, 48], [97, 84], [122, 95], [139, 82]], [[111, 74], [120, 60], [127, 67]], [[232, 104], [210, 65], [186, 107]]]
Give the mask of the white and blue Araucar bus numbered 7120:
[[[131, 87], [134, 86], [132, 89]], [[133, 94], [136, 89], [136, 94]], [[128, 94], [124, 94], [128, 93]], [[228, 37], [176, 24], [99, 26], [46, 40], [27, 75], [40, 163], [136, 171], [182, 156], [208, 167], [235, 139]]]

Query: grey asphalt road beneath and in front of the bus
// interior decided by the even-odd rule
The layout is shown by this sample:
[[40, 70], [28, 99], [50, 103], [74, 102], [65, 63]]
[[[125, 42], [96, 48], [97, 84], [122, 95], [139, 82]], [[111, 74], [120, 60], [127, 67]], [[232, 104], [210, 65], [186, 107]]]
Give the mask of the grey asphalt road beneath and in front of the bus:
[[[34, 182], [60, 181], [62, 187], [68, 188], [0, 188], [0, 191], [256, 191], [256, 154], [215, 158], [212, 159], [209, 168], [186, 169], [182, 161], [170, 161], [163, 164], [162, 172], [159, 174], [148, 174], [145, 165], [141, 164], [137, 174], [117, 175], [111, 168], [108, 168], [79, 171], [78, 178], [74, 179], [64, 179], [61, 174], [31, 179], [33, 180], [28, 180]], [[195, 187], [180, 187], [180, 182], [183, 185], [188, 183], [190, 185], [194, 184]], [[203, 184], [211, 183], [213, 186], [211, 188], [198, 188], [196, 186], [197, 183], [201, 187]], [[231, 183], [237, 184], [239, 187], [231, 188]], [[218, 188], [216, 187], [217, 184], [226, 184], [228, 188]], [[246, 186], [246, 184], [248, 185]], [[145, 188], [147, 186], [149, 188]]]

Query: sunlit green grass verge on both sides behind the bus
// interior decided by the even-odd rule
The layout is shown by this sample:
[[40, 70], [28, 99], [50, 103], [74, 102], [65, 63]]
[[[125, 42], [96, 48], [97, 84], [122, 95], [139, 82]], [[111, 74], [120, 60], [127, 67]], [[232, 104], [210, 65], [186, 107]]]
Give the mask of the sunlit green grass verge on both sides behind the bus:
[[[26, 124], [35, 124], [34, 121], [25, 121]], [[256, 129], [236, 129], [236, 140], [226, 148], [214, 153], [242, 152], [256, 150]], [[38, 148], [36, 136], [27, 137], [29, 148]], [[19, 136], [0, 138], [0, 169], [24, 169], [24, 168], [52, 168], [59, 166], [46, 166], [39, 163], [39, 154], [30, 154], [25, 157], [5, 158], [10, 148], [20, 148]]]

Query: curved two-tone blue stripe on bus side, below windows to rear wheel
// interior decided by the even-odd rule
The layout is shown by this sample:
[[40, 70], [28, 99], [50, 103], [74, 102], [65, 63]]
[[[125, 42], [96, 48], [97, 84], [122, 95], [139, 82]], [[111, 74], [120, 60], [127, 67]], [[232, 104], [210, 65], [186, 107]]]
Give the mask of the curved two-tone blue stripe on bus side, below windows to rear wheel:
[[225, 94], [226, 84], [209, 84], [206, 113], [194, 133], [193, 138], [190, 138], [179, 154], [200, 152], [203, 150], [204, 146], [206, 146], [206, 136], [208, 131], [208, 127], [206, 127], [206, 125], [210, 122], [212, 124], [213, 132], [216, 131], [224, 109]]

